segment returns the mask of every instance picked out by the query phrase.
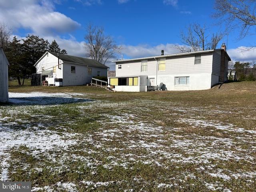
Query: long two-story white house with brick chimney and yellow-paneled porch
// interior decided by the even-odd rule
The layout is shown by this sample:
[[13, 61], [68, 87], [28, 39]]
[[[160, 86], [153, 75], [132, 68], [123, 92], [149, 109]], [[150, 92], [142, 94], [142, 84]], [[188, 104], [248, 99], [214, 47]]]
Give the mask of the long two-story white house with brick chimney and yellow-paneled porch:
[[225, 44], [221, 49], [116, 60], [116, 76], [108, 83], [116, 91], [204, 90], [228, 80]]

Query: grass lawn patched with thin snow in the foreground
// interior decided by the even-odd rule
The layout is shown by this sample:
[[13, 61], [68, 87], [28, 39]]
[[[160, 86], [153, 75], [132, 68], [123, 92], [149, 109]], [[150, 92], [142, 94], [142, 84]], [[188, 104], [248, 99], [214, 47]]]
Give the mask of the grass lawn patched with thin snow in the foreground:
[[40, 192], [256, 189], [256, 82], [9, 92], [20, 103], [0, 106], [1, 180], [31, 181]]

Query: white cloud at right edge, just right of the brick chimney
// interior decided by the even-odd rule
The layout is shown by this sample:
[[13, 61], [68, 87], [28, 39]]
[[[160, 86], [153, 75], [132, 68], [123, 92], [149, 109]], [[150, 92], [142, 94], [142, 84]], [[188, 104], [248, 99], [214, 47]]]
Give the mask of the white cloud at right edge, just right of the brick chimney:
[[230, 58], [236, 62], [252, 62], [256, 61], [256, 48], [251, 48], [249, 49], [248, 47], [238, 47], [238, 48], [233, 48], [228, 50], [228, 55]]

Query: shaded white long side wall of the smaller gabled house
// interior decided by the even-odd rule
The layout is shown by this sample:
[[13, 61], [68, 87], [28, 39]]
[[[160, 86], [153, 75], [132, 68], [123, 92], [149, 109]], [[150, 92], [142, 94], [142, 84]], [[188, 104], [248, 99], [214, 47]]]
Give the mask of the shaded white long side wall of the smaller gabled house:
[[[76, 67], [76, 73], [71, 73], [71, 66]], [[92, 74], [88, 75], [88, 68], [92, 68]], [[80, 64], [72, 64], [64, 62], [63, 64], [63, 86], [84, 85], [91, 82], [93, 76], [97, 76], [100, 71], [100, 76], [107, 76], [107, 68], [98, 68], [85, 66]]]

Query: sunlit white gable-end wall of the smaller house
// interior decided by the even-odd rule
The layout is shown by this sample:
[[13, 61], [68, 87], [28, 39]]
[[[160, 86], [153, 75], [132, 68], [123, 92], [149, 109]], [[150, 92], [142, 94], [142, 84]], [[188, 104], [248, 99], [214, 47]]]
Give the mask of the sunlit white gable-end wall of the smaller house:
[[45, 55], [40, 62], [36, 65], [36, 73], [42, 73], [42, 67], [44, 70], [53, 70], [53, 67], [56, 66], [56, 73], [53, 74], [53, 78], [63, 78], [62, 73], [62, 60], [60, 60], [60, 68], [58, 68], [58, 58], [50, 53], [48, 56]]

